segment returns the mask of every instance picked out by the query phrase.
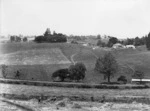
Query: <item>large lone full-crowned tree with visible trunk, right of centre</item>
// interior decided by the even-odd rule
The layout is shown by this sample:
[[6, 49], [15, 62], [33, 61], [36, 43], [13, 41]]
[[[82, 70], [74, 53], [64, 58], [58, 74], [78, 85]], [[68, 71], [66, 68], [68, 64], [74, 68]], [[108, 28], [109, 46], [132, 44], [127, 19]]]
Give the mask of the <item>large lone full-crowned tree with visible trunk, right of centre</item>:
[[102, 73], [104, 79], [107, 78], [108, 82], [110, 82], [110, 78], [113, 77], [118, 70], [118, 63], [115, 57], [108, 52], [97, 59], [95, 70]]

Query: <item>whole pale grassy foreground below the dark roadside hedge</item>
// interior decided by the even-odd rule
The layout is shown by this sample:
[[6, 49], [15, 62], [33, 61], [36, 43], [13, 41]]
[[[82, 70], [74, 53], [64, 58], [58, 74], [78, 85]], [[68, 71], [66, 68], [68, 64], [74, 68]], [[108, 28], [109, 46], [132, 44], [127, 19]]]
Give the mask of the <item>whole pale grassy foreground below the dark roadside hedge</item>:
[[[0, 84], [2, 111], [149, 111], [150, 90], [103, 90]], [[42, 97], [39, 102], [38, 99]], [[93, 97], [93, 99], [91, 99]], [[105, 97], [105, 99], [103, 99]], [[101, 102], [104, 100], [104, 102]], [[63, 104], [60, 104], [63, 103]], [[74, 104], [80, 107], [74, 107]]]

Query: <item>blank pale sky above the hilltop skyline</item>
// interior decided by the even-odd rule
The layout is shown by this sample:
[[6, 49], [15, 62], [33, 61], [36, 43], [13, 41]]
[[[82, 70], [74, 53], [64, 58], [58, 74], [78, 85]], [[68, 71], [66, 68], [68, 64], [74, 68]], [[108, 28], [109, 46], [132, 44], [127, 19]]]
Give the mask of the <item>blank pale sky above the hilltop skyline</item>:
[[141, 37], [150, 32], [150, 0], [0, 0], [0, 35]]

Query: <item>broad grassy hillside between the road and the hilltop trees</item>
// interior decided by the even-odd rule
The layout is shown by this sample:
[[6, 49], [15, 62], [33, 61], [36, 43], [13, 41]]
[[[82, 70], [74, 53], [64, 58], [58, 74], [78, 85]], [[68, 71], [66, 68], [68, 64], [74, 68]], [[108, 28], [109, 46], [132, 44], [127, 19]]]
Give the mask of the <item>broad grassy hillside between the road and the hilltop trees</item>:
[[[56, 49], [58, 52], [55, 53], [54, 49]], [[57, 69], [69, 67], [71, 64], [69, 63], [69, 61], [71, 61], [71, 56], [75, 54], [73, 57], [74, 61], [83, 62], [87, 68], [86, 77], [83, 82], [104, 82], [105, 80], [103, 79], [103, 75], [94, 71], [94, 67], [97, 57], [103, 55], [107, 50], [92, 50], [92, 48], [89, 47], [68, 43], [37, 44], [30, 42], [0, 44], [0, 55], [9, 55], [8, 57], [10, 60], [8, 60], [8, 62], [12, 61], [14, 58], [14, 60], [16, 60], [18, 58], [16, 55], [20, 55], [20, 60], [18, 61], [20, 65], [9, 65], [7, 70], [8, 78], [13, 78], [14, 72], [16, 70], [20, 70], [22, 72], [21, 79], [46, 81], [51, 81], [51, 74]], [[111, 81], [116, 81], [120, 75], [125, 75], [128, 79], [128, 82], [130, 82], [133, 69], [139, 69], [143, 71], [145, 73], [145, 78], [150, 79], [150, 52], [148, 52], [144, 46], [138, 47], [136, 50], [124, 49], [111, 51], [120, 65], [119, 72], [115, 74]], [[58, 55], [61, 55], [61, 57], [58, 57]], [[33, 58], [35, 58], [35, 56], [37, 56], [37, 59], [34, 60]], [[67, 62], [58, 64], [60, 61], [58, 58], [61, 58], [60, 60]], [[15, 63], [16, 61], [14, 60], [11, 63]], [[22, 61], [28, 62], [26, 62], [27, 64], [22, 64]]]

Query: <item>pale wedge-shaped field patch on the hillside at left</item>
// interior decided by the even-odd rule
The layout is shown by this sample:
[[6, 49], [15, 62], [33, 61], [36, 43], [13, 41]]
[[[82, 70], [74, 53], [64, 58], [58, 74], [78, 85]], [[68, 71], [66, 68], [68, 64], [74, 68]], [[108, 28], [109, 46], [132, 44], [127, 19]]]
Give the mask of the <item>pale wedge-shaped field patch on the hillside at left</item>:
[[71, 63], [59, 48], [17, 51], [0, 55], [0, 64], [38, 65]]

